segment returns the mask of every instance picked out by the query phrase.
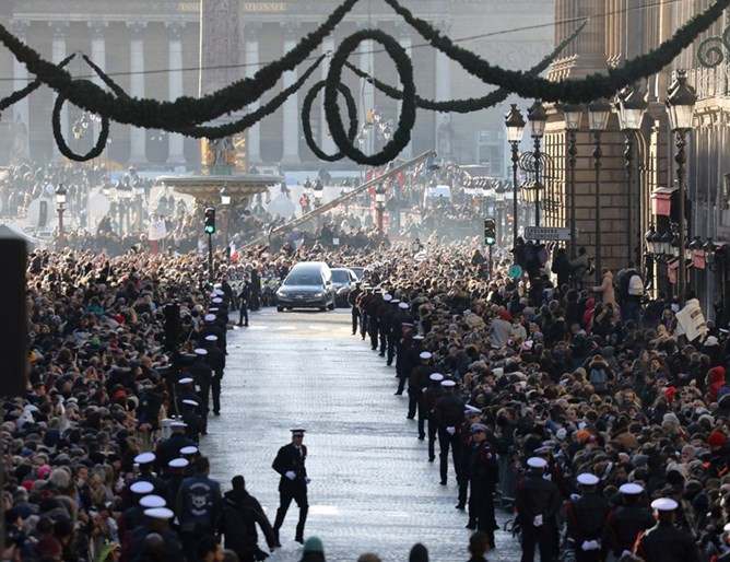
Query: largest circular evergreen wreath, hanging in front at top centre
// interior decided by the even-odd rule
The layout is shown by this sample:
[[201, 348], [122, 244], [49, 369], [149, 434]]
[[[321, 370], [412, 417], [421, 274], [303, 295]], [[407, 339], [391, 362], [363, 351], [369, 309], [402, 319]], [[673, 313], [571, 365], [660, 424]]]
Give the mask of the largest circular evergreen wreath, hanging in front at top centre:
[[[341, 84], [342, 68], [348, 57], [358, 45], [372, 39], [382, 45], [386, 52], [396, 63], [396, 70], [403, 86], [403, 105], [401, 108], [398, 128], [393, 138], [376, 154], [367, 155], [356, 149], [344, 132], [344, 125], [337, 104], [339, 85]], [[413, 81], [413, 65], [405, 49], [390, 35], [378, 30], [362, 30], [345, 37], [334, 51], [330, 63], [327, 80], [325, 81], [325, 115], [332, 139], [342, 153], [360, 164], [381, 166], [395, 160], [401, 150], [411, 141], [411, 130], [415, 124], [415, 82]]]

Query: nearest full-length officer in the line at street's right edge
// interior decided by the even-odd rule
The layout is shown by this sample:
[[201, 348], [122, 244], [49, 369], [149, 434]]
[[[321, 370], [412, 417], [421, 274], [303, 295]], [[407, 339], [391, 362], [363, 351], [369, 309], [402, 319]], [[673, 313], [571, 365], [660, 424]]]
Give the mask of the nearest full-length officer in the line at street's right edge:
[[499, 481], [497, 457], [486, 441], [487, 428], [483, 423], [471, 425], [471, 448], [467, 453], [466, 473], [469, 482], [469, 520], [488, 537], [494, 548], [494, 531], [499, 528], [494, 515], [494, 492]]

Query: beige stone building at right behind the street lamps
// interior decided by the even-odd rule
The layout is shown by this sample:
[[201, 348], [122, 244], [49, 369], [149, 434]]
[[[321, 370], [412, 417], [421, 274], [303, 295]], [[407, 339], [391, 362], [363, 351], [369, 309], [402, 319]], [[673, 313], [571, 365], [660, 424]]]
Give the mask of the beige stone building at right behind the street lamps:
[[[555, 43], [570, 32], [568, 25], [560, 22], [585, 16], [589, 16], [590, 22], [564, 56], [553, 63], [550, 78], [582, 78], [621, 66], [627, 59], [655, 49], [708, 4], [709, 0], [663, 3], [639, 0], [631, 4], [625, 0], [556, 0]], [[578, 245], [594, 255], [600, 227], [603, 265], [614, 274], [633, 259], [645, 267], [655, 290], [676, 294], [678, 262], [652, 259], [647, 253], [645, 235], [649, 229], [659, 232], [672, 229], [679, 218], [679, 199], [674, 191], [678, 185], [675, 142], [669, 129], [664, 102], [674, 73], [680, 69], [687, 70], [688, 82], [696, 89], [698, 102], [695, 127], [687, 136], [686, 147], [686, 239], [691, 242], [699, 237], [706, 242], [711, 238], [715, 248], [720, 249], [718, 256], [721, 256], [715, 260], [714, 256], [693, 251], [687, 280], [710, 317], [714, 317], [718, 303], [727, 311], [730, 300], [730, 253], [726, 246], [730, 242], [730, 164], [727, 159], [730, 147], [727, 125], [730, 59], [723, 51], [725, 58], [717, 67], [704, 68], [698, 47], [704, 39], [721, 35], [729, 21], [726, 14], [669, 68], [638, 84], [649, 105], [640, 130], [634, 134], [631, 183], [626, 173], [625, 133], [620, 130], [617, 116], [611, 116], [608, 130], [601, 137], [603, 157], [599, 204], [592, 159], [594, 143], [586, 115], [577, 134], [575, 213]], [[550, 114], [545, 150], [554, 165], [545, 178], [544, 224], [567, 226], [570, 214], [566, 177], [567, 133], [562, 112], [551, 107]], [[597, 221], [599, 208], [601, 214]]]

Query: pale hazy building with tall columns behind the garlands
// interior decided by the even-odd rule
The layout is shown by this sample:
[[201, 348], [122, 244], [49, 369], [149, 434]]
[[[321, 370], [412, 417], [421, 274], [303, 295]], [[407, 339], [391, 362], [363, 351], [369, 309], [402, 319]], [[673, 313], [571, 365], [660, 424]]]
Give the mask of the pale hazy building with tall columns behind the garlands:
[[[404, 0], [404, 4], [461, 45], [509, 68], [529, 68], [552, 47], [553, 0]], [[52, 4], [47, 0], [8, 0], [0, 8], [0, 22], [50, 60], [59, 61], [68, 54], [82, 51], [130, 95], [172, 99], [179, 95], [209, 93], [233, 80], [252, 75], [261, 65], [293, 48], [338, 5], [334, 0], [56, 0]], [[201, 11], [205, 17], [201, 19]], [[209, 26], [203, 33], [201, 21], [202, 25]], [[511, 31], [530, 25], [538, 27]], [[390, 8], [375, 0], [361, 0], [335, 32], [325, 39], [321, 52], [334, 50], [344, 36], [367, 27], [397, 37], [412, 56], [422, 96], [441, 101], [475, 97], [491, 90], [446, 56], [424, 45], [424, 39], [404, 25]], [[202, 52], [201, 36], [207, 37]], [[227, 54], [225, 62], [219, 57], [221, 49]], [[374, 49], [372, 45], [363, 44], [351, 60], [380, 80], [399, 83], [395, 65], [377, 45]], [[202, 80], [200, 67], [203, 68]], [[280, 91], [294, 82], [305, 68], [301, 65], [285, 73], [274, 90]], [[327, 63], [322, 65], [316, 77], [323, 78], [327, 68]], [[91, 77], [102, 83], [79, 58], [71, 62], [69, 70], [74, 75]], [[0, 95], [7, 95], [28, 81], [25, 68], [4, 50], [0, 51], [0, 72], [8, 78], [0, 81]], [[377, 107], [395, 128], [400, 104], [346, 69], [343, 77], [357, 101], [361, 119], [367, 109]], [[321, 165], [302, 134], [301, 107], [305, 92], [299, 91], [290, 97], [280, 110], [248, 130], [249, 164], [281, 163], [287, 168]], [[51, 136], [51, 92], [40, 89], [5, 112], [2, 116], [4, 127], [19, 140], [12, 151], [13, 142], [7, 142], [4, 151], [0, 144], [0, 162], [11, 157], [40, 162], [60, 159]], [[447, 159], [482, 163], [494, 175], [505, 175], [507, 156], [502, 116], [506, 107], [507, 103], [470, 115], [419, 110], [412, 142], [402, 155], [440, 147], [441, 155]], [[69, 145], [76, 152], [86, 152], [93, 145], [98, 124], [93, 121], [83, 138], [74, 138], [73, 125], [81, 114], [67, 104], [61, 120]], [[334, 152], [322, 116], [320, 96], [311, 112], [313, 129], [320, 147]], [[24, 140], [17, 132], [23, 127], [27, 131]], [[102, 156], [104, 161], [125, 167], [131, 164], [141, 169], [201, 167], [200, 142], [193, 139], [118, 124], [111, 125], [109, 138]], [[377, 149], [385, 140], [374, 139], [372, 142], [372, 148]], [[21, 144], [23, 150], [19, 148]], [[331, 165], [337, 166], [352, 168], [353, 164]]]

